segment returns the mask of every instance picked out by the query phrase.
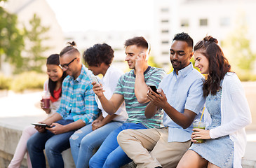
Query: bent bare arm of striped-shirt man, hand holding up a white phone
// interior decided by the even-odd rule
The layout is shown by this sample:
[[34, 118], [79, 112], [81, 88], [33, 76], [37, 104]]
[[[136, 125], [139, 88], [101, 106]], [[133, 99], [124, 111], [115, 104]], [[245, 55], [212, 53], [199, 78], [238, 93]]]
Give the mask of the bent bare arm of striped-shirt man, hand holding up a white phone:
[[119, 109], [121, 104], [123, 103], [123, 95], [121, 94], [113, 94], [111, 99], [107, 99], [105, 95], [103, 94], [104, 90], [102, 87], [100, 87], [99, 84], [96, 84], [95, 82], [93, 84], [93, 92], [97, 95], [97, 97], [100, 99], [100, 103], [102, 104], [102, 108], [109, 113], [109, 115], [112, 115], [116, 113], [116, 111]]

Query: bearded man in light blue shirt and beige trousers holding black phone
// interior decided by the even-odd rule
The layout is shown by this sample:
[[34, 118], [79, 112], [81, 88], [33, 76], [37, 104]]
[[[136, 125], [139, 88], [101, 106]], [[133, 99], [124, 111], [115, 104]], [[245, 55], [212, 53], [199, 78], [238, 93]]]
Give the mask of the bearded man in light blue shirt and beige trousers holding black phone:
[[205, 102], [203, 76], [190, 62], [193, 54], [192, 38], [186, 33], [176, 34], [170, 47], [173, 72], [159, 83], [158, 93], [149, 88], [151, 102], [144, 114], [151, 118], [163, 109], [165, 127], [124, 130], [118, 136], [119, 145], [137, 167], [176, 167], [191, 144], [191, 123], [200, 117]]

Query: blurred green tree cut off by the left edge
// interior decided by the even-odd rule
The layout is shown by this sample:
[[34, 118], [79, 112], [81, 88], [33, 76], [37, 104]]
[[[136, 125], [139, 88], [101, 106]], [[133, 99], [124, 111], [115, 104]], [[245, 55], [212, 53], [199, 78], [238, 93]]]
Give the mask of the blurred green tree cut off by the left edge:
[[[0, 1], [4, 3], [4, 1]], [[2, 57], [15, 67], [22, 66], [23, 34], [17, 28], [17, 16], [0, 6], [0, 68]]]

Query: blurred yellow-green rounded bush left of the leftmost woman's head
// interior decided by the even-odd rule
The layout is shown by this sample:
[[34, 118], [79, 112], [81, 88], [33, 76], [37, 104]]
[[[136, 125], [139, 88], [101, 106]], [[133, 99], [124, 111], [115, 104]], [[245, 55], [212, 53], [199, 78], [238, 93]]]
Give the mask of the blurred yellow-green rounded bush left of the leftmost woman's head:
[[15, 92], [22, 92], [27, 89], [43, 89], [43, 83], [46, 79], [45, 73], [36, 73], [35, 71], [20, 73], [13, 79], [11, 89]]

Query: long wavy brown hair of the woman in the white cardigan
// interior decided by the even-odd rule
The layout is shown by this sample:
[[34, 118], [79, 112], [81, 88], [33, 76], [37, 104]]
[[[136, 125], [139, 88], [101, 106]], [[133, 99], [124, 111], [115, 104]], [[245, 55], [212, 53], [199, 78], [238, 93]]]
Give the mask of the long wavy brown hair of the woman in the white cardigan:
[[206, 36], [202, 41], [198, 41], [194, 46], [194, 51], [198, 50], [205, 55], [209, 61], [209, 72], [207, 79], [203, 83], [203, 96], [208, 94], [215, 95], [217, 90], [220, 90], [220, 81], [225, 74], [231, 71], [231, 65], [219, 45], [218, 41], [212, 36]]

